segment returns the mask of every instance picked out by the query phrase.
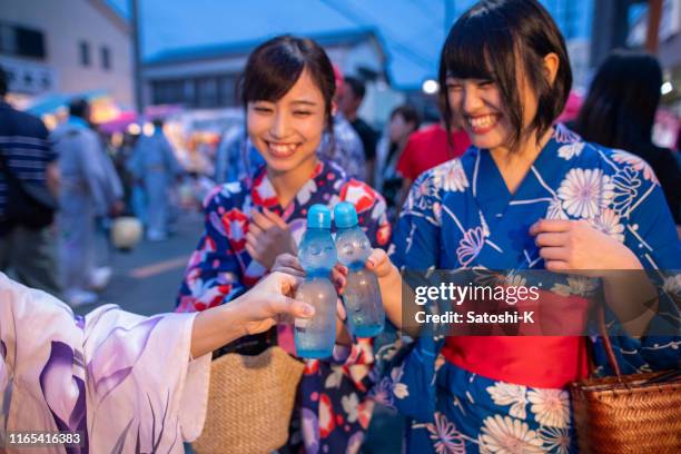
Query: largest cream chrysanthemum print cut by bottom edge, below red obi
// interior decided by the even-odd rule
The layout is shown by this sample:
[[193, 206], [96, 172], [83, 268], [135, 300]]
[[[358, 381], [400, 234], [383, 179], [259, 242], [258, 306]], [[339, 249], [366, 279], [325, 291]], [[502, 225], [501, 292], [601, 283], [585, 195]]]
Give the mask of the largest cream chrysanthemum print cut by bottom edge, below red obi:
[[497, 454], [540, 454], [543, 453], [542, 441], [527, 423], [510, 416], [494, 415], [483, 421], [481, 452], [486, 450]]

